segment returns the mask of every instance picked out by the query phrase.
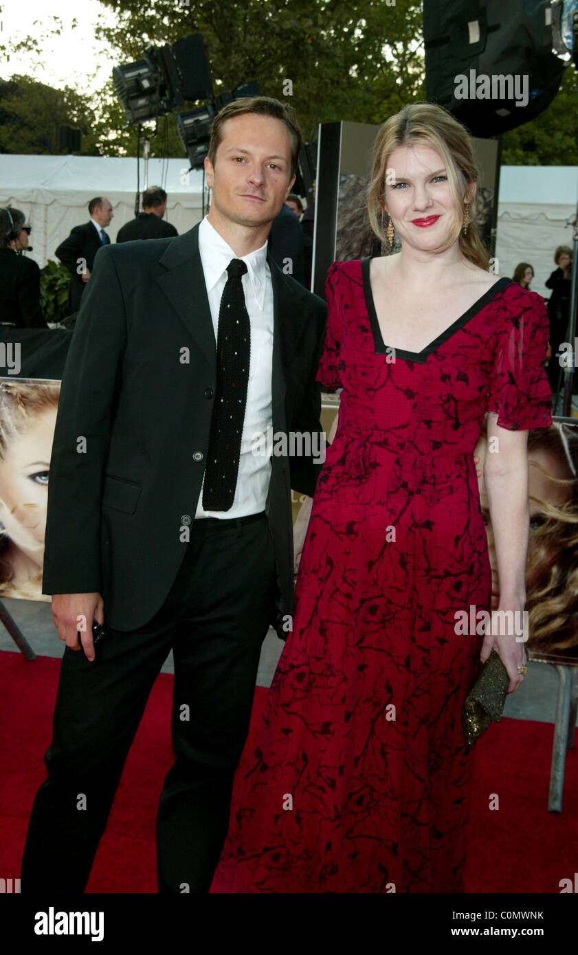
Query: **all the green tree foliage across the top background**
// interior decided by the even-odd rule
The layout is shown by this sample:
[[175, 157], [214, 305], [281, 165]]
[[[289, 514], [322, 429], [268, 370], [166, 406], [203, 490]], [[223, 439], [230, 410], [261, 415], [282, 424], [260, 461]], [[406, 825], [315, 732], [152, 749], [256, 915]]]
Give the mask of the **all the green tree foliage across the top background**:
[[[425, 99], [420, 0], [100, 0], [115, 23], [103, 21], [96, 37], [117, 62], [140, 58], [147, 46], [203, 34], [215, 94], [256, 80], [265, 96], [290, 102], [304, 137], [320, 122], [381, 123], [406, 103]], [[64, 28], [47, 18], [45, 32]], [[14, 52], [42, 56], [42, 37]], [[10, 62], [10, 49], [0, 43]], [[87, 101], [74, 90], [51, 90], [15, 77], [18, 95], [0, 88], [0, 151], [54, 153], [54, 128], [83, 129], [82, 153], [136, 156], [137, 130], [127, 128], [112, 76]], [[289, 95], [286, 81], [290, 80]], [[28, 85], [27, 85], [28, 84]], [[1, 87], [1, 84], [0, 84]], [[10, 98], [13, 96], [13, 98]], [[503, 137], [504, 164], [578, 164], [576, 72], [568, 67], [547, 110]], [[190, 109], [199, 103], [187, 103]], [[9, 111], [11, 107], [11, 111]], [[2, 110], [5, 121], [2, 125]], [[13, 122], [6, 122], [9, 114]], [[9, 116], [9, 118], [10, 118]], [[57, 116], [57, 121], [54, 117]], [[184, 156], [174, 116], [145, 127], [151, 156]]]

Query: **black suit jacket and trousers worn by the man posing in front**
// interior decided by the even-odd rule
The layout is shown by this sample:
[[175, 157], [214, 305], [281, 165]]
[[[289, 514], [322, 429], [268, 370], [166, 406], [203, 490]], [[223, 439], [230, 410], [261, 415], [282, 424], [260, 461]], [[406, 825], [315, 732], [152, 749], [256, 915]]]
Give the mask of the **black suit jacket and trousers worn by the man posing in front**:
[[[198, 229], [103, 248], [75, 328], [54, 434], [43, 590], [99, 592], [108, 633], [92, 663], [65, 649], [25, 892], [45, 886], [47, 871], [63, 892], [84, 888], [171, 648], [176, 761], [159, 809], [159, 885], [208, 891], [261, 644], [269, 621], [292, 612], [290, 489], [312, 495], [314, 452], [271, 457], [264, 514], [195, 520], [217, 374]], [[272, 432], [319, 434], [325, 304], [270, 256], [268, 265]]]

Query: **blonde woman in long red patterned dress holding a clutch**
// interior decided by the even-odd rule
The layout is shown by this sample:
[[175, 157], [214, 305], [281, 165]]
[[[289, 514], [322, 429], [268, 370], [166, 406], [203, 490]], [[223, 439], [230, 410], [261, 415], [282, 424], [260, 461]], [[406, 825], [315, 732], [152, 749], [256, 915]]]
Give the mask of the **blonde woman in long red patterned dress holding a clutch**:
[[401, 251], [330, 269], [318, 380], [339, 423], [220, 891], [463, 891], [463, 700], [492, 648], [509, 691], [525, 668], [514, 632], [456, 626], [491, 598], [473, 452], [487, 412], [499, 608], [521, 614], [527, 432], [551, 421], [544, 301], [488, 272], [476, 180], [437, 106], [375, 138], [370, 222]]

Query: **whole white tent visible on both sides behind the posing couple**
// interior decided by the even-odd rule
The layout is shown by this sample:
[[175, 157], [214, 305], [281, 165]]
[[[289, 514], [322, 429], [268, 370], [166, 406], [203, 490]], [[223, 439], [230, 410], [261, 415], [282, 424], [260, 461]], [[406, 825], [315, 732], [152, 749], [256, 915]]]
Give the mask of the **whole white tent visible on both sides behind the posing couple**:
[[[203, 173], [187, 172], [186, 159], [150, 159], [149, 185], [168, 193], [166, 218], [186, 232], [202, 216]], [[140, 160], [140, 189], [144, 166]], [[106, 196], [115, 217], [108, 233], [134, 216], [137, 160], [85, 156], [0, 155], [0, 205], [22, 209], [32, 224], [32, 258], [54, 259], [54, 249], [73, 225], [88, 221], [88, 202]], [[571, 244], [567, 226], [576, 209], [577, 166], [503, 166], [500, 173], [496, 257], [500, 275], [519, 262], [533, 266], [532, 288], [549, 297], [545, 281], [555, 268], [557, 245]]]

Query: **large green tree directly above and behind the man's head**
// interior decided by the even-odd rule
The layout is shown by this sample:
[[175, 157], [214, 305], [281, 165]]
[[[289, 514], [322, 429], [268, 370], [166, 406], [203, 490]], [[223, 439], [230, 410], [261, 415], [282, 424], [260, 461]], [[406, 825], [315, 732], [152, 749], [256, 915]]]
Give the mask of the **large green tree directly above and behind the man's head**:
[[254, 79], [263, 95], [291, 103], [306, 138], [316, 137], [319, 122], [381, 122], [423, 96], [419, 0], [403, 9], [389, 0], [101, 2], [118, 22], [97, 35], [118, 51], [119, 63], [201, 32], [215, 93]]

